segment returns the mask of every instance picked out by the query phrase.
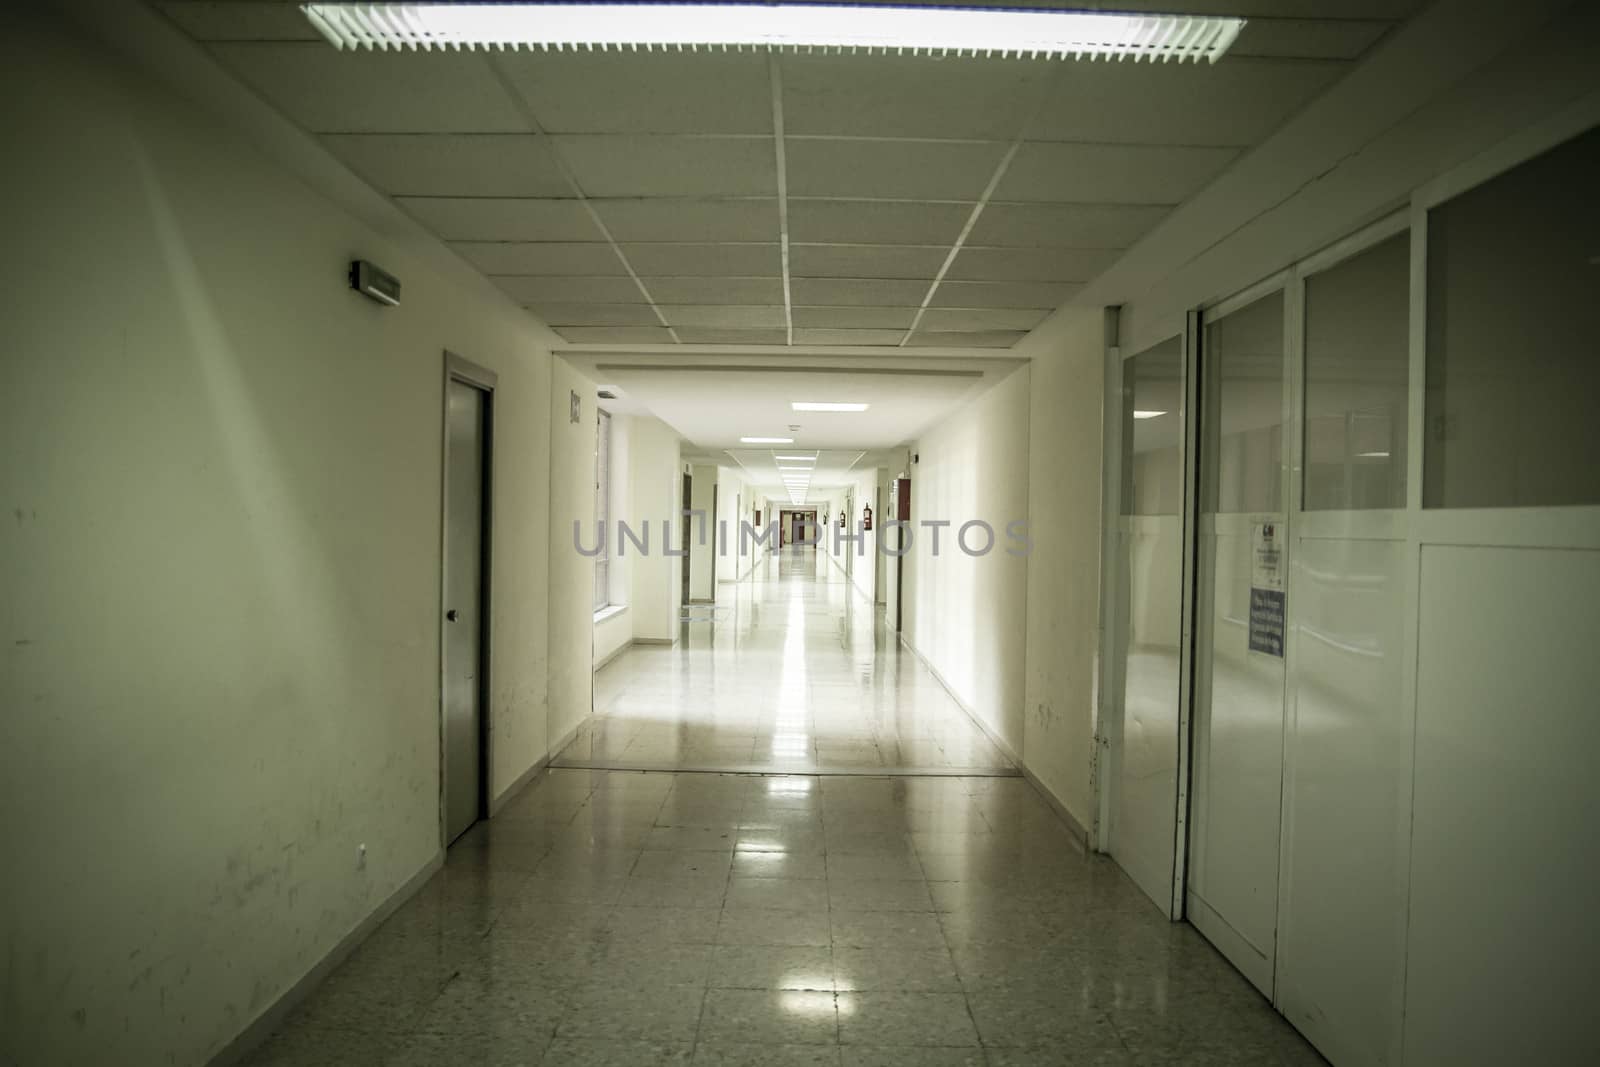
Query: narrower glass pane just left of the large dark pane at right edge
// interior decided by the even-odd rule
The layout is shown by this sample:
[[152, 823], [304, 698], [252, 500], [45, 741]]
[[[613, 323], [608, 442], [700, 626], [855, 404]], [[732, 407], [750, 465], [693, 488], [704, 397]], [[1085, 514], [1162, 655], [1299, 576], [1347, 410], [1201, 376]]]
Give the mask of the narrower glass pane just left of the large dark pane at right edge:
[[1411, 235], [1306, 278], [1306, 510], [1405, 507]]

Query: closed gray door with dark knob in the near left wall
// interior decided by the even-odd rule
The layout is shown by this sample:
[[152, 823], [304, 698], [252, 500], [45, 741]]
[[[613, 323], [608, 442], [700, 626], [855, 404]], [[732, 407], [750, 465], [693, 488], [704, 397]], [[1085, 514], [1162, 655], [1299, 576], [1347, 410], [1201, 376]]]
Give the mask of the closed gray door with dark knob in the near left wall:
[[445, 450], [445, 840], [461, 837], [483, 797], [485, 397], [451, 381]]

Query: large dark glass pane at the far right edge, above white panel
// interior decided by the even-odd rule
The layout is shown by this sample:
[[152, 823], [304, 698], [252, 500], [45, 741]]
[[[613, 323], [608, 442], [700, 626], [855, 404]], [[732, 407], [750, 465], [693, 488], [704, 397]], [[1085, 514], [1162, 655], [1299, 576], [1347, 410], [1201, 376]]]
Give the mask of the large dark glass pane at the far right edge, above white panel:
[[1600, 130], [1427, 214], [1426, 507], [1600, 504]]

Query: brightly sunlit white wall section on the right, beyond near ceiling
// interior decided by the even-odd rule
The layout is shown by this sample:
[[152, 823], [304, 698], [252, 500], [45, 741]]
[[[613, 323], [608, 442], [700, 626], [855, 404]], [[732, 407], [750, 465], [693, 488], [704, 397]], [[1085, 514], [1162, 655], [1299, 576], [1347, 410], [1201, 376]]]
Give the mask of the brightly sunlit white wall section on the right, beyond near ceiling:
[[[944, 683], [1013, 752], [1024, 742], [1027, 558], [1008, 553], [1006, 523], [1027, 520], [1029, 376], [1013, 371], [923, 434], [910, 450], [915, 542], [906, 555], [904, 637]], [[923, 522], [949, 522], [933, 531]], [[994, 550], [957, 547], [968, 520], [995, 530]], [[968, 544], [982, 545], [981, 531]]]

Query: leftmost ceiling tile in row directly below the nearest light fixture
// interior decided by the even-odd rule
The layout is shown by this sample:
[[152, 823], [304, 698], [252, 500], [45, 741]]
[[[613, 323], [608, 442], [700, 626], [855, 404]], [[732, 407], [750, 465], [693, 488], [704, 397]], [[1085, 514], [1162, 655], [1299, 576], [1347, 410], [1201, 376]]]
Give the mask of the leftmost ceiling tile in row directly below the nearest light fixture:
[[312, 133], [528, 133], [477, 53], [213, 45], [224, 67]]

